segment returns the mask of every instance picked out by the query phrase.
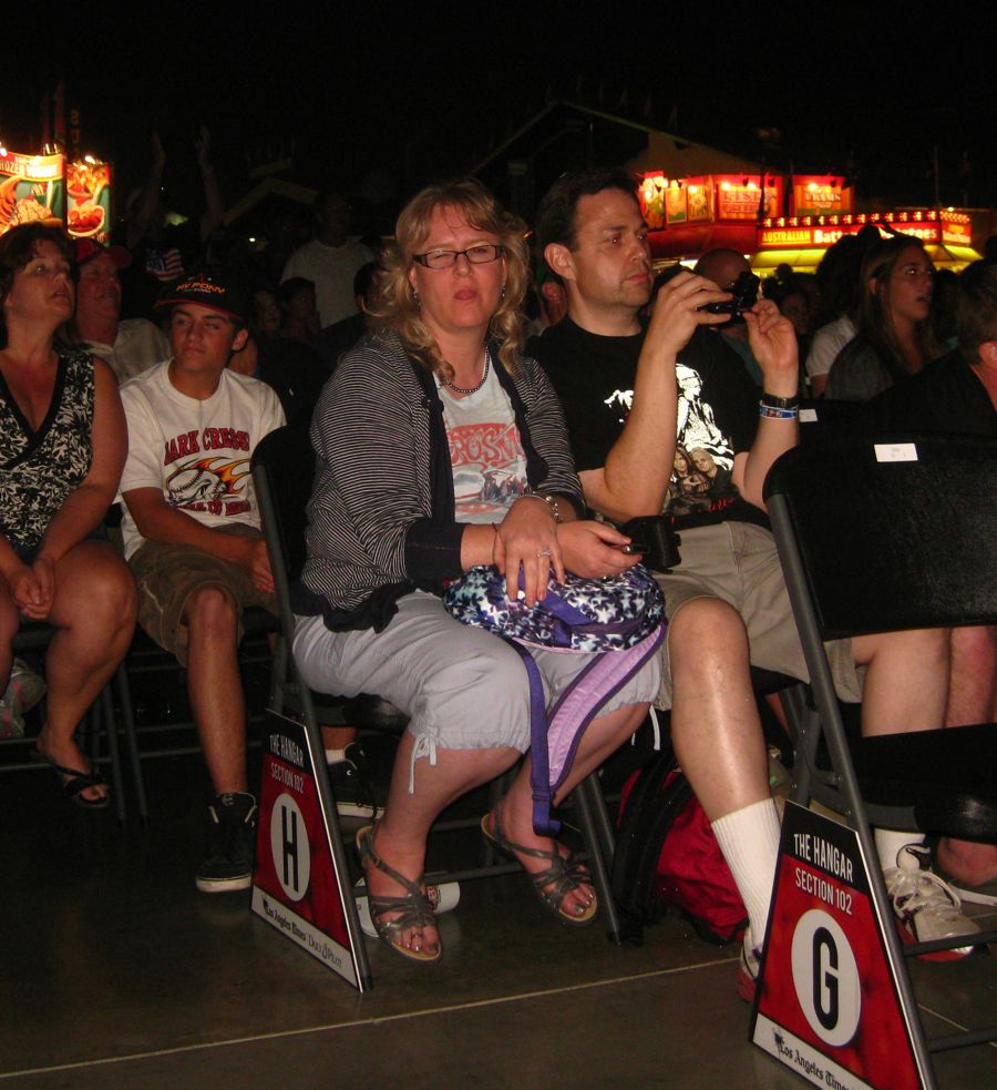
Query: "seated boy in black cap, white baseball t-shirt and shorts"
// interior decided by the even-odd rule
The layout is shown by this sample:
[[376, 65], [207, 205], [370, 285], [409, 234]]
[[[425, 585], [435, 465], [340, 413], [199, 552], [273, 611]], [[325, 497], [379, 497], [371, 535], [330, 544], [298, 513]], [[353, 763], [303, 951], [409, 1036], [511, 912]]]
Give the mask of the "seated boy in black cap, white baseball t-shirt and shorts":
[[247, 337], [246, 299], [227, 275], [195, 273], [157, 307], [172, 308], [173, 357], [121, 390], [129, 421], [122, 532], [140, 623], [187, 668], [216, 795], [196, 883], [204, 893], [224, 893], [248, 888], [253, 872], [241, 611], [263, 605], [276, 613], [249, 459], [284, 424], [284, 410], [270, 387], [227, 367]]

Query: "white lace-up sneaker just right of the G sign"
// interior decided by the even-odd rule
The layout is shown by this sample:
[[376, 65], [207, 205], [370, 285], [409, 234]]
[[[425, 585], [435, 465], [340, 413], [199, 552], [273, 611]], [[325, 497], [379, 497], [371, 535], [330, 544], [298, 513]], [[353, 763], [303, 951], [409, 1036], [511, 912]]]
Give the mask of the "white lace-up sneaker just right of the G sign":
[[[897, 853], [897, 865], [883, 872], [901, 937], [914, 944], [965, 935], [972, 941], [979, 928], [963, 915], [959, 895], [929, 869], [929, 859], [928, 848], [907, 844]], [[918, 957], [925, 961], [954, 961], [972, 953], [969, 945]]]

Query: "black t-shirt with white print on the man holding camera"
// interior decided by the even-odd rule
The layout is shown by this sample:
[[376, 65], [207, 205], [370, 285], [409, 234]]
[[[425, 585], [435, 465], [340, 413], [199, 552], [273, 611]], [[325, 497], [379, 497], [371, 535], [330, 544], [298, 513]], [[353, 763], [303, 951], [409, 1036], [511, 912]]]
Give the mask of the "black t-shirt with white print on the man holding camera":
[[[630, 409], [644, 333], [604, 337], [571, 318], [533, 338], [567, 420], [578, 471], [598, 469]], [[758, 390], [737, 353], [698, 329], [679, 353], [678, 444], [666, 511], [677, 528], [717, 522], [768, 526], [731, 480], [734, 455], [750, 449], [758, 427]]]

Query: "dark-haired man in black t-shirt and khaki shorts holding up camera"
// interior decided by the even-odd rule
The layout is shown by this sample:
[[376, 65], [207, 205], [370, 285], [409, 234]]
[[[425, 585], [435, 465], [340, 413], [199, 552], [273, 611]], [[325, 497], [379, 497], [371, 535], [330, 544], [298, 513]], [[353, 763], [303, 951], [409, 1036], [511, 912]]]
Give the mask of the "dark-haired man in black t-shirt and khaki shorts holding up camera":
[[[731, 296], [715, 283], [678, 273], [645, 329], [647, 228], [625, 173], [562, 177], [541, 204], [536, 232], [567, 288], [568, 316], [531, 348], [564, 404], [585, 499], [617, 522], [664, 511], [681, 530], [680, 562], [658, 573], [669, 619], [658, 703], [671, 707], [679, 763], [749, 913], [738, 981], [748, 998], [780, 828], [750, 665], [806, 679], [762, 500], [769, 468], [798, 441], [795, 335], [773, 303], [744, 313], [763, 376], [759, 399], [740, 358], [705, 328], [730, 317]], [[942, 722], [944, 633], [839, 641], [831, 659], [839, 694], [864, 700], [876, 731]], [[897, 916], [921, 940], [975, 930], [922, 877], [915, 842], [877, 831]]]

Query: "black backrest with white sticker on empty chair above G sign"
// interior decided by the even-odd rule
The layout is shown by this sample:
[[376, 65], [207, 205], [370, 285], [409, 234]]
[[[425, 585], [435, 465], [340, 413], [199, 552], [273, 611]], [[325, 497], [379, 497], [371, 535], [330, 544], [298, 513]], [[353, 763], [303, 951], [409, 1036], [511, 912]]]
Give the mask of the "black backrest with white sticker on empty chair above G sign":
[[798, 447], [765, 501], [777, 539], [781, 526], [795, 539], [824, 639], [997, 621], [997, 440]]

